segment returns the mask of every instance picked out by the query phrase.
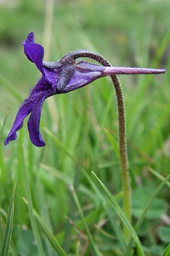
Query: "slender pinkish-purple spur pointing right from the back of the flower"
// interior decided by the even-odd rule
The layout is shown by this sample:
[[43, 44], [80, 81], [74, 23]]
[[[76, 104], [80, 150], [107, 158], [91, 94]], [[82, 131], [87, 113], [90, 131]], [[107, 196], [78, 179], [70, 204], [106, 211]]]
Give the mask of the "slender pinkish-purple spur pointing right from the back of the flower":
[[126, 68], [126, 67], [105, 67], [104, 76], [108, 75], [142, 75], [142, 74], [161, 74], [165, 69], [152, 68]]

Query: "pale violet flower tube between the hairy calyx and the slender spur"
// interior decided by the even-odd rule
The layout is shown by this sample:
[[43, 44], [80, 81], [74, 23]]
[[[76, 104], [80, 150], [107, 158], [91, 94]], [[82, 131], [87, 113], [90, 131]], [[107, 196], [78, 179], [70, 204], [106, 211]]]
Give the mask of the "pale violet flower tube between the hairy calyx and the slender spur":
[[63, 93], [81, 88], [103, 76], [105, 67], [81, 61], [75, 65], [75, 71], [68, 84], [63, 88]]

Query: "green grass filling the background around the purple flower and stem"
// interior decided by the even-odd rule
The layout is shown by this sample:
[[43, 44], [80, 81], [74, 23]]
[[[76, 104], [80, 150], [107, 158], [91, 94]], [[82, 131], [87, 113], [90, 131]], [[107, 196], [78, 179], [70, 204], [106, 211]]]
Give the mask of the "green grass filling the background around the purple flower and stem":
[[[116, 0], [56, 1], [54, 9], [50, 60], [86, 48], [113, 65], [167, 69], [165, 75], [119, 77], [133, 191], [130, 225], [122, 212], [117, 106], [109, 77], [53, 96], [55, 108], [45, 101], [40, 123], [44, 148], [29, 142], [27, 120], [18, 139], [4, 146], [20, 102], [40, 77], [21, 42], [35, 31], [36, 42], [43, 44], [45, 4], [1, 3], [0, 251], [17, 181], [6, 255], [7, 250], [11, 256], [126, 256], [128, 250], [128, 256], [169, 255], [170, 240], [163, 232], [165, 227], [170, 230], [168, 181], [163, 187], [170, 157], [169, 11], [168, 1]], [[125, 240], [121, 221], [128, 225], [138, 251], [131, 247], [132, 240]], [[12, 224], [8, 232], [11, 228]]]

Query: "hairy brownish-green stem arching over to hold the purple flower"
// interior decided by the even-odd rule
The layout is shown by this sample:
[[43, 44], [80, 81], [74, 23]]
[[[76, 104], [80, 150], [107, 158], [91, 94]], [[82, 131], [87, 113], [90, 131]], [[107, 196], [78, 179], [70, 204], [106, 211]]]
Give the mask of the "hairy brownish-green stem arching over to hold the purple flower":
[[[74, 60], [79, 57], [89, 57], [98, 61], [101, 65], [105, 67], [111, 66], [111, 64], [101, 55], [95, 52], [78, 50], [70, 52], [69, 54], [62, 57], [61, 61], [65, 61], [67, 58], [73, 58]], [[129, 175], [129, 164], [128, 164], [128, 152], [126, 143], [126, 115], [125, 115], [125, 105], [124, 97], [122, 94], [122, 88], [120, 81], [116, 75], [111, 76], [114, 89], [117, 98], [117, 108], [118, 108], [118, 130], [119, 130], [119, 148], [120, 148], [120, 163], [121, 163], [121, 176], [122, 176], [122, 187], [124, 190], [124, 212], [131, 222], [131, 184]], [[126, 238], [129, 238], [129, 232], [124, 227], [124, 233]]]

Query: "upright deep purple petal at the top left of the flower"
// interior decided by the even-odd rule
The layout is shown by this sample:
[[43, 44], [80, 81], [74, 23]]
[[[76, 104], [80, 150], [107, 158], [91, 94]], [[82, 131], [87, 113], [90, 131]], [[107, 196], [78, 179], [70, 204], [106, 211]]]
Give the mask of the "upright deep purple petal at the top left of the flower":
[[36, 64], [39, 71], [44, 74], [44, 69], [42, 67], [42, 60], [44, 57], [44, 48], [40, 44], [36, 44], [34, 42], [34, 34], [33, 32], [29, 33], [25, 42], [22, 43], [24, 46], [24, 53], [27, 58]]

